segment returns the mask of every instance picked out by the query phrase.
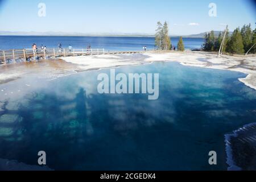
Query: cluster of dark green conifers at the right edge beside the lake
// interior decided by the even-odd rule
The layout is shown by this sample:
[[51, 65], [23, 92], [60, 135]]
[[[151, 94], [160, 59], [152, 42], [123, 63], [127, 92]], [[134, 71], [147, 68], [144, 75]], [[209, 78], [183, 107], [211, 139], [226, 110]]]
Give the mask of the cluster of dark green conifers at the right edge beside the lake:
[[[224, 38], [224, 32], [220, 32], [218, 37], [214, 36], [214, 31], [211, 31], [205, 35], [205, 42], [203, 44], [204, 51], [219, 51], [222, 39]], [[241, 30], [236, 28], [232, 35], [227, 34], [225, 36], [223, 52], [243, 54], [247, 53], [249, 49], [254, 46], [250, 53], [256, 52], [256, 28], [251, 30], [251, 24], [244, 25]]]

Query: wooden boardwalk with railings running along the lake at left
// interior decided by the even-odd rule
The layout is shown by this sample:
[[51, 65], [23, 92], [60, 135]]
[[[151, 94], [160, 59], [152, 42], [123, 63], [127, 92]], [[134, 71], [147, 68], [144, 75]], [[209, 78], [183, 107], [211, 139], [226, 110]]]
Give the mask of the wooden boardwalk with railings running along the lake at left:
[[11, 64], [39, 59], [55, 59], [66, 56], [113, 55], [124, 53], [141, 53], [143, 51], [105, 51], [105, 49], [11, 49], [0, 50], [0, 64]]

